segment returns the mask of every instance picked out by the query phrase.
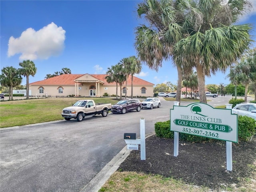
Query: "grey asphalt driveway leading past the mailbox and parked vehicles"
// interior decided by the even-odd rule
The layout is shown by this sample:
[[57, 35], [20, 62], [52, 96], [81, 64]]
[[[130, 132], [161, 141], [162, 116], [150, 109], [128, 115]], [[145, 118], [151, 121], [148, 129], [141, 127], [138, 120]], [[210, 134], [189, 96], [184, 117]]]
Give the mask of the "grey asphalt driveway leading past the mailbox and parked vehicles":
[[126, 146], [125, 132], [140, 136], [140, 118], [146, 134], [156, 122], [170, 119], [174, 102], [160, 99], [161, 107], [153, 110], [1, 129], [0, 192], [79, 192]]

